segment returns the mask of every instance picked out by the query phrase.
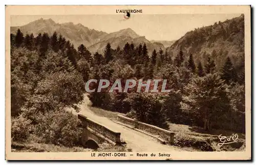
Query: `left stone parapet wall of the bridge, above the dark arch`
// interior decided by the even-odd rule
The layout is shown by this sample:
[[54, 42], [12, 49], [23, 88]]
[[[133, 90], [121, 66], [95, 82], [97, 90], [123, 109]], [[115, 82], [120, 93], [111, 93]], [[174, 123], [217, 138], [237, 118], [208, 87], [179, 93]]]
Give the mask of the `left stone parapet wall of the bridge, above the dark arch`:
[[100, 123], [93, 121], [92, 119], [87, 118], [81, 114], [78, 115], [78, 119], [82, 122], [82, 127], [88, 131], [92, 130], [91, 133], [104, 138], [106, 141], [111, 141], [115, 144], [120, 144], [120, 132], [115, 132], [106, 128]]

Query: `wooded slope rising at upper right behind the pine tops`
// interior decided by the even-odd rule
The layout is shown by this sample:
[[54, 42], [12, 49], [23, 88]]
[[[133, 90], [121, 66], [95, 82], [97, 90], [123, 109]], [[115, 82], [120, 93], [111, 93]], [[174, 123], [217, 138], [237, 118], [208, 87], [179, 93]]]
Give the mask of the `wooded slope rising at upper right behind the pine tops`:
[[[204, 63], [209, 53], [218, 69], [224, 65], [227, 56], [240, 67], [244, 65], [244, 16], [187, 32], [167, 48], [168, 53], [174, 58], [180, 47], [186, 58], [190, 53], [194, 54], [196, 62]], [[212, 53], [214, 50], [216, 53]]]

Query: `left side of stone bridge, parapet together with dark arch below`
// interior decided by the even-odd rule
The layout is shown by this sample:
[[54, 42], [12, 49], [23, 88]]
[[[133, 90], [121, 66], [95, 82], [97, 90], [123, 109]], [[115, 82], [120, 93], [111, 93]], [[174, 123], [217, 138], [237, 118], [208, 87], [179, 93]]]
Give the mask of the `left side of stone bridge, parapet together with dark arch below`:
[[81, 114], [78, 114], [78, 119], [80, 119], [83, 128], [80, 141], [84, 147], [96, 149], [103, 142], [109, 142], [113, 145], [121, 144], [120, 132], [114, 132]]

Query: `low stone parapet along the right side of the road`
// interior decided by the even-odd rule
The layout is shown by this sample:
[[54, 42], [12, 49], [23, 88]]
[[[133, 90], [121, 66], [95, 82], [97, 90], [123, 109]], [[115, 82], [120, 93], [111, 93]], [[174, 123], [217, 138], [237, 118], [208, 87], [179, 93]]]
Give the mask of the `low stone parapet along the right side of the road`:
[[173, 144], [174, 143], [174, 134], [175, 132], [168, 131], [162, 128], [159, 128], [155, 125], [150, 125], [146, 123], [139, 122], [137, 120], [127, 118], [122, 115], [118, 115], [118, 120], [125, 123], [134, 126], [134, 128], [149, 132], [153, 135], [160, 136], [162, 139], [164, 139], [167, 143]]

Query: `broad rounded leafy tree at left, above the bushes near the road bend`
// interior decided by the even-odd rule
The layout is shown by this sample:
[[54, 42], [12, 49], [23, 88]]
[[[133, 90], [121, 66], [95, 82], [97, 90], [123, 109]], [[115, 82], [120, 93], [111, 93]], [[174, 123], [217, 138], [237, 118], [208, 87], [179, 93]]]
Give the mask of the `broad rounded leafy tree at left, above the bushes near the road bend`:
[[54, 111], [63, 107], [74, 107], [83, 99], [84, 84], [82, 76], [74, 72], [56, 72], [46, 74], [38, 81], [33, 95], [27, 96], [27, 109], [36, 111]]

